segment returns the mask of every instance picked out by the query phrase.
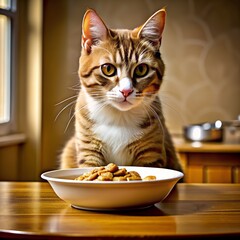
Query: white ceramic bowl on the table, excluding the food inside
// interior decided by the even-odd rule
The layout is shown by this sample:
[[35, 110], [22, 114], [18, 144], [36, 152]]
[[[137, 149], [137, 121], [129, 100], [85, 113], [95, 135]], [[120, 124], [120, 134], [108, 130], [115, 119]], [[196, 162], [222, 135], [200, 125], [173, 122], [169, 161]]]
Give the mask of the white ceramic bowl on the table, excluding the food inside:
[[151, 206], [162, 201], [172, 190], [183, 173], [150, 167], [125, 167], [137, 171], [142, 178], [154, 175], [154, 181], [96, 182], [76, 181], [75, 177], [92, 168], [73, 168], [45, 172], [47, 180], [59, 198], [73, 207], [87, 210], [120, 210]]

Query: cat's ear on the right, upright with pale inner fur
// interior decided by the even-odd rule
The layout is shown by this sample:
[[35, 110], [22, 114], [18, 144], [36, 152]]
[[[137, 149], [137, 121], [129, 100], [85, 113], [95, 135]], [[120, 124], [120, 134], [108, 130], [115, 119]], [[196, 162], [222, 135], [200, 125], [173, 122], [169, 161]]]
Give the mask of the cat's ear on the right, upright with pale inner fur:
[[154, 46], [160, 47], [165, 26], [166, 11], [161, 9], [154, 13], [142, 26], [133, 30], [138, 38], [149, 40]]

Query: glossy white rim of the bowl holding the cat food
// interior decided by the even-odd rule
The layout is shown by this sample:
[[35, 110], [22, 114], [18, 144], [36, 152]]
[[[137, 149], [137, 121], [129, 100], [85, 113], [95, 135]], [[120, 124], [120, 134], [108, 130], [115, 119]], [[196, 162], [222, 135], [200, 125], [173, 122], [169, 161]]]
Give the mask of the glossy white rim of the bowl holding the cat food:
[[[118, 166], [119, 168], [148, 168], [148, 169], [161, 169], [162, 171], [170, 171], [176, 173], [176, 176], [172, 176], [169, 178], [163, 178], [163, 179], [156, 179], [151, 181], [143, 181], [143, 180], [133, 180], [133, 181], [77, 181], [74, 179], [65, 179], [61, 177], [52, 177], [48, 176], [57, 172], [67, 172], [67, 171], [77, 171], [77, 170], [91, 170], [95, 167], [85, 167], [85, 168], [69, 168], [69, 169], [57, 169], [57, 170], [51, 170], [47, 171], [41, 174], [41, 178], [44, 180], [47, 180], [49, 182], [59, 182], [59, 183], [71, 183], [71, 184], [78, 184], [78, 185], [86, 185], [86, 184], [93, 184], [93, 185], [99, 185], [99, 184], [106, 184], [106, 185], [119, 185], [119, 184], [146, 184], [146, 183], [156, 183], [156, 182], [165, 182], [170, 180], [180, 180], [184, 177], [184, 174], [180, 171], [169, 169], [169, 168], [156, 168], [156, 167], [140, 167], [140, 166]], [[67, 177], [67, 176], [64, 176]]]

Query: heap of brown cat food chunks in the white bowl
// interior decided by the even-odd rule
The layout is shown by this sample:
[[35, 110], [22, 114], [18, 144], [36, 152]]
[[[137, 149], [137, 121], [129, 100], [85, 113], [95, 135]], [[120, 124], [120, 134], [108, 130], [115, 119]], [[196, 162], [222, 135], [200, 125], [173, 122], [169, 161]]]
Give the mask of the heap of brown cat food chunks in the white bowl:
[[146, 176], [141, 178], [136, 171], [127, 171], [126, 168], [119, 168], [114, 163], [109, 163], [105, 167], [96, 167], [90, 172], [86, 172], [75, 178], [78, 181], [153, 181], [156, 176]]

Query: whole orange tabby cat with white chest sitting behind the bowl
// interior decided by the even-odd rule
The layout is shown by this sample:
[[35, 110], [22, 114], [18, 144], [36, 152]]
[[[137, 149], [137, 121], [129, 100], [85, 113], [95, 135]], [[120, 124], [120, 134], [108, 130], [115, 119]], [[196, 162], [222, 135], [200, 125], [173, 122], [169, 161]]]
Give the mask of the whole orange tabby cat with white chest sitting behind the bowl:
[[138, 28], [113, 30], [86, 11], [75, 135], [63, 149], [61, 169], [112, 162], [182, 171], [158, 96], [165, 15], [160, 9]]

